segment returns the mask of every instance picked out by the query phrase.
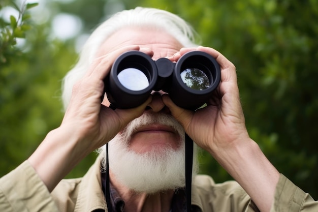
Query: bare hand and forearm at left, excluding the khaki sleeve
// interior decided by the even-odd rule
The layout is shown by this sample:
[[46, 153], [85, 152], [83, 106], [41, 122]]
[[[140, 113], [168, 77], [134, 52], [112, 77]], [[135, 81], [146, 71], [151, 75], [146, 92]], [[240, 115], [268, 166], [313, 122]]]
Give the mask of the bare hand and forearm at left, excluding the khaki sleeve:
[[[139, 46], [120, 48], [96, 59], [86, 75], [73, 87], [72, 98], [60, 127], [48, 133], [29, 157], [49, 191], [83, 158], [111, 140], [132, 119], [140, 116], [143, 105], [128, 110], [112, 110], [107, 100], [101, 105], [104, 82], [119, 54], [139, 50]], [[151, 54], [151, 52], [145, 52]]]

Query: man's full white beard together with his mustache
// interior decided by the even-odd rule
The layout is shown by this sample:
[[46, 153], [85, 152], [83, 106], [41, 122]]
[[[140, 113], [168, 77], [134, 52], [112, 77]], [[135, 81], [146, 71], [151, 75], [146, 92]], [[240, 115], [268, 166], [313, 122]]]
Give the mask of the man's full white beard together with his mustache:
[[[141, 126], [160, 123], [173, 127], [180, 135], [180, 146], [152, 148], [146, 153], [136, 153], [129, 148], [129, 141]], [[121, 185], [135, 191], [152, 194], [158, 191], [185, 186], [184, 130], [167, 114], [144, 113], [134, 119], [121, 133], [109, 142], [109, 168]], [[101, 153], [106, 158], [105, 147]], [[104, 162], [106, 160], [103, 160]], [[105, 164], [104, 164], [104, 167]], [[193, 177], [198, 171], [197, 148], [194, 148]]]

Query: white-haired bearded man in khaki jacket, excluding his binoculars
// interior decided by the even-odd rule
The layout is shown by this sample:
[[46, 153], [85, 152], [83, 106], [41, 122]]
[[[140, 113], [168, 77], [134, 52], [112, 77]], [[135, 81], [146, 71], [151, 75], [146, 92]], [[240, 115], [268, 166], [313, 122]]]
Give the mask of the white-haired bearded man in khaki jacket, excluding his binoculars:
[[[192, 29], [162, 10], [122, 11], [101, 24], [63, 81], [66, 113], [60, 127], [1, 178], [0, 210], [185, 211], [186, 133], [237, 181], [217, 185], [197, 175], [194, 157], [192, 211], [317, 211], [317, 203], [281, 175], [249, 138], [234, 65], [192, 41]], [[107, 98], [101, 103], [104, 79], [115, 59], [130, 50], [171, 62], [189, 51], [206, 52], [219, 64], [221, 81], [207, 106], [196, 111], [176, 106], [162, 91], [152, 92], [138, 107], [113, 110]], [[62, 180], [97, 148], [100, 157], [83, 178]]]

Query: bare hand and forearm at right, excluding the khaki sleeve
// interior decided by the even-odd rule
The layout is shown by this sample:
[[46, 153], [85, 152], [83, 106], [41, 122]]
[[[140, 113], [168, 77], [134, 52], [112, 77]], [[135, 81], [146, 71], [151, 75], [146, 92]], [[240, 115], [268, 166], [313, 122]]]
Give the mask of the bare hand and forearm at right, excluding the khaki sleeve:
[[216, 93], [207, 107], [195, 112], [177, 107], [167, 95], [164, 102], [186, 133], [238, 181], [259, 209], [270, 211], [279, 172], [248, 136], [236, 69], [226, 57], [206, 47], [183, 48], [174, 55], [174, 60], [190, 50], [205, 51], [216, 58], [221, 68]]

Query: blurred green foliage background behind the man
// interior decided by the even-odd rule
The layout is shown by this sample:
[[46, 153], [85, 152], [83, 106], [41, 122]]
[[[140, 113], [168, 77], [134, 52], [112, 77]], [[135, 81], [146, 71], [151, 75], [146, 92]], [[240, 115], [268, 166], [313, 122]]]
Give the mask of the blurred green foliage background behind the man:
[[[5, 3], [10, 1], [0, 6]], [[194, 26], [202, 45], [217, 49], [236, 65], [251, 138], [281, 173], [318, 199], [318, 1], [46, 3], [53, 11], [51, 18], [62, 12], [79, 16], [82, 33], [91, 32], [118, 8], [136, 6], [180, 15]], [[3, 32], [6, 23], [0, 20]], [[25, 45], [8, 50], [6, 62], [0, 63], [0, 175], [24, 161], [46, 133], [58, 127], [60, 80], [77, 58], [76, 38], [52, 38], [49, 20], [37, 24], [30, 19], [28, 25], [23, 29]], [[69, 177], [85, 173], [95, 157], [87, 157]], [[202, 152], [200, 161], [201, 172], [217, 182], [231, 179], [207, 153]]]

